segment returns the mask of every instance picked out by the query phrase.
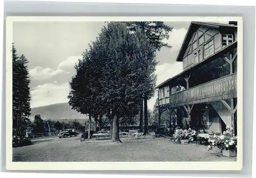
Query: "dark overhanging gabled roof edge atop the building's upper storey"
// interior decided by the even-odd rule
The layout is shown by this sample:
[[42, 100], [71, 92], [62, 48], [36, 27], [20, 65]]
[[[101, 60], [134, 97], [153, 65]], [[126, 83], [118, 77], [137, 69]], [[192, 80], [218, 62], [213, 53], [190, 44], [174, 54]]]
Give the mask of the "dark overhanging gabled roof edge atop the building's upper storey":
[[183, 60], [183, 55], [186, 51], [186, 47], [189, 43], [189, 40], [195, 30], [199, 28], [200, 26], [205, 26], [205, 27], [211, 27], [211, 28], [232, 28], [232, 29], [237, 29], [236, 25], [231, 25], [231, 24], [221, 24], [221, 23], [214, 23], [214, 22], [201, 22], [201, 21], [192, 21], [190, 23], [190, 26], [187, 30], [187, 34], [183, 40], [182, 46], [180, 48], [180, 52], [177, 56], [176, 61], [182, 61]]

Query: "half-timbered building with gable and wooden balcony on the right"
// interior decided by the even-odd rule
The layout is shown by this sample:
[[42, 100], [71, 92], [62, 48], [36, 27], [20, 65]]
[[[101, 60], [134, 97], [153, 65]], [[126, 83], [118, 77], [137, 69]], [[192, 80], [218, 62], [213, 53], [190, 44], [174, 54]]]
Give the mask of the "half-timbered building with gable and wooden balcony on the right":
[[[157, 86], [158, 122], [167, 110], [170, 116], [177, 115], [173, 125], [209, 132], [223, 132], [228, 125], [236, 134], [236, 22], [191, 22], [177, 62], [183, 63], [183, 71]], [[185, 90], [177, 93], [179, 85]]]

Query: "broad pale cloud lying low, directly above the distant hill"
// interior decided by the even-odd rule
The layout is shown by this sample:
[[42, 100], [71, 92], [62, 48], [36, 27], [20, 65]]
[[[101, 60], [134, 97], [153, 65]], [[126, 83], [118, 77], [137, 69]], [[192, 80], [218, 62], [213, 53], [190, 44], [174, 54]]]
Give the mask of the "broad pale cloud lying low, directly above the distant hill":
[[68, 102], [70, 87], [68, 83], [46, 83], [31, 91], [31, 107], [46, 106]]

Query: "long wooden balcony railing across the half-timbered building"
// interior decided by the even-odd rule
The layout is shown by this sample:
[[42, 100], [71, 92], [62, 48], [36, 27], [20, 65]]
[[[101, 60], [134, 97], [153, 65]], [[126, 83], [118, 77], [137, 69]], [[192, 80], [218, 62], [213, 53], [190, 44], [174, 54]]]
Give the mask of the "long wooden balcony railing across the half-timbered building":
[[189, 88], [159, 100], [159, 105], [178, 107], [237, 97], [237, 73]]

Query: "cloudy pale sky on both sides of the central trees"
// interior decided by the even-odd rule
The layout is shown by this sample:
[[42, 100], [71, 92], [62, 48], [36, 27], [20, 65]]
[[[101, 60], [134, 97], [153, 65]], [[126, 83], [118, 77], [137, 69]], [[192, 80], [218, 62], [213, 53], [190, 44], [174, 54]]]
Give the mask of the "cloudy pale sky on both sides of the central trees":
[[[166, 22], [173, 27], [167, 43], [172, 48], [157, 52], [157, 82], [182, 72], [176, 62], [181, 44], [190, 25], [188, 22]], [[31, 107], [68, 102], [69, 81], [75, 74], [74, 64], [89, 43], [98, 36], [104, 22], [14, 22], [13, 42], [18, 55], [29, 60]], [[148, 101], [153, 109], [157, 94]]]

